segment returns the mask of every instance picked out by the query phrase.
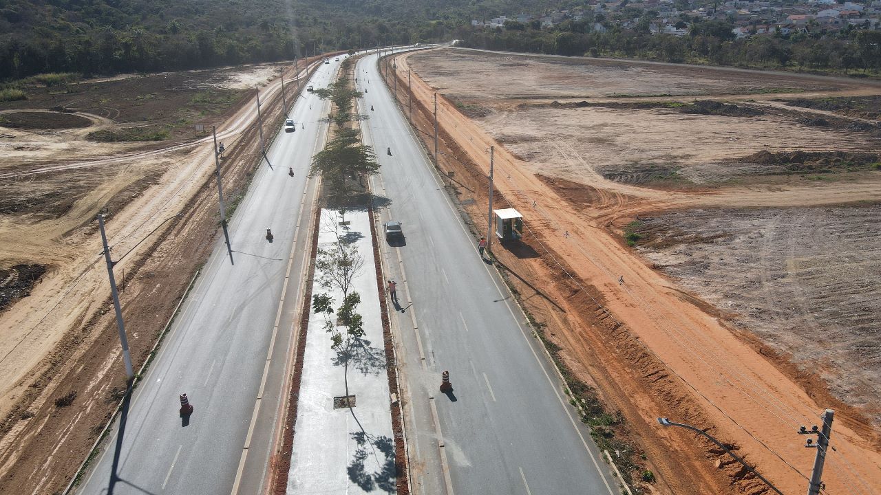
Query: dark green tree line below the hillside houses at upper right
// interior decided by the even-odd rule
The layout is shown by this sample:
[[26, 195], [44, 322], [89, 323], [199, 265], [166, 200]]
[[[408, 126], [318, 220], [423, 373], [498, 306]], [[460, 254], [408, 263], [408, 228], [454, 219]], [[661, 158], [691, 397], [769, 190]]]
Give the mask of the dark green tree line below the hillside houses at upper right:
[[881, 72], [881, 32], [844, 29], [834, 33], [794, 33], [735, 39], [734, 26], [719, 20], [692, 23], [685, 36], [648, 33], [648, 22], [625, 29], [566, 21], [551, 29], [522, 23], [474, 29], [464, 38], [471, 48], [549, 55], [620, 56], [671, 63], [707, 63], [766, 69]]

